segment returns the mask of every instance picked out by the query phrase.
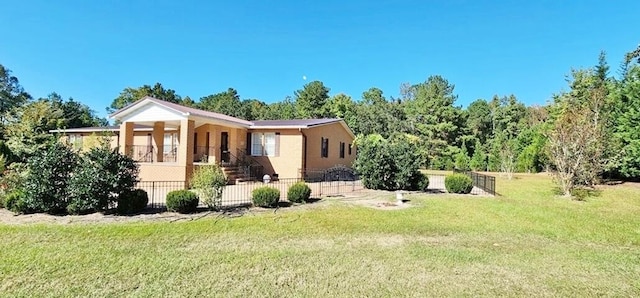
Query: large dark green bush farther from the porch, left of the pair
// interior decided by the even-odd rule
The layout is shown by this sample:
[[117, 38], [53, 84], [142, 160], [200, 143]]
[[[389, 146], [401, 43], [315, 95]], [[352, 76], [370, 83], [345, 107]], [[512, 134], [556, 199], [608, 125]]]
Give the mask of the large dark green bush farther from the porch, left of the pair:
[[54, 143], [36, 152], [27, 163], [28, 173], [24, 181], [24, 213], [66, 212], [69, 198], [69, 178], [78, 165], [78, 156], [71, 148]]

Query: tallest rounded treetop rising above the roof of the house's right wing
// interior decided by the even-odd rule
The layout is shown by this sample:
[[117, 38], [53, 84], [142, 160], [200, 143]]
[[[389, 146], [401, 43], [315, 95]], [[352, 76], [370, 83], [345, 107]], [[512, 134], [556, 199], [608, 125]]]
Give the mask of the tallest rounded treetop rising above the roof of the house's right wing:
[[296, 112], [299, 118], [326, 117], [325, 104], [329, 99], [329, 88], [320, 81], [313, 81], [294, 92]]

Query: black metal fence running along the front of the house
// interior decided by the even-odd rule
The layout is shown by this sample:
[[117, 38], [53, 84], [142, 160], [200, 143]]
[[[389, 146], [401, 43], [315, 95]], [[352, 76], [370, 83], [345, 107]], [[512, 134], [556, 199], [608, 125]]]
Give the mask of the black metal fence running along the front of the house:
[[[248, 181], [227, 185], [222, 192], [222, 208], [251, 205], [251, 193], [254, 189], [269, 186], [280, 191], [280, 201], [287, 201], [287, 191], [291, 185], [305, 181], [301, 178], [287, 178], [270, 181]], [[305, 181], [311, 188], [311, 197], [344, 195], [364, 189], [360, 180], [354, 181]], [[174, 190], [187, 189], [184, 181], [140, 181], [136, 188], [143, 189], [149, 196], [148, 208], [166, 209], [167, 194]]]

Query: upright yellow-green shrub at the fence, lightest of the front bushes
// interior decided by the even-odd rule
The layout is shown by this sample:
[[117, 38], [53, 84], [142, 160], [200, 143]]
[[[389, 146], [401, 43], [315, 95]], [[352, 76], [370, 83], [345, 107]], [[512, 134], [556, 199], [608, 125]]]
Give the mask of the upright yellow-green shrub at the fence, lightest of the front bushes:
[[198, 166], [193, 172], [191, 187], [195, 188], [203, 203], [217, 210], [222, 206], [222, 191], [227, 181], [217, 164], [206, 164]]

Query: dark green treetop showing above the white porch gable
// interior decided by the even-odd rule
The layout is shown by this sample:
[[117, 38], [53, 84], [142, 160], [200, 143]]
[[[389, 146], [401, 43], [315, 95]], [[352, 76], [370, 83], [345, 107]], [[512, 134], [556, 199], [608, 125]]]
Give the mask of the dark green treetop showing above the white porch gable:
[[113, 113], [119, 109], [126, 107], [127, 105], [134, 103], [145, 96], [150, 96], [160, 100], [181, 103], [182, 98], [176, 94], [175, 90], [165, 89], [162, 84], [156, 83], [155, 85], [142, 85], [138, 88], [127, 87], [120, 92], [120, 95], [116, 97], [111, 105], [107, 107], [107, 112]]

